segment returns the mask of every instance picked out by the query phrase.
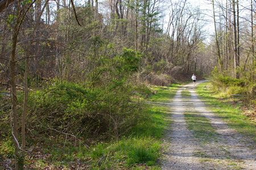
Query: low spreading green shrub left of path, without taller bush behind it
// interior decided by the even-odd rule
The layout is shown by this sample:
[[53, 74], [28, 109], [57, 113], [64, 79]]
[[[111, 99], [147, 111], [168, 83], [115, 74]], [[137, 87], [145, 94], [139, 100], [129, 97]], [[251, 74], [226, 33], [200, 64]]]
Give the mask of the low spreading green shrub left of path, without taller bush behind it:
[[131, 86], [124, 85], [113, 81], [105, 89], [90, 89], [54, 80], [44, 90], [30, 93], [28, 126], [40, 121], [43, 128], [38, 131], [56, 127], [82, 136], [119, 136], [146, 115], [144, 105], [131, 100]]

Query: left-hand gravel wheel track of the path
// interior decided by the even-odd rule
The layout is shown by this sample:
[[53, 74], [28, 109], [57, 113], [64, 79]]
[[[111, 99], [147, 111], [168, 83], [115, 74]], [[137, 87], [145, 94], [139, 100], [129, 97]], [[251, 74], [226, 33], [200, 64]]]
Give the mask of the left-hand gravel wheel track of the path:
[[203, 169], [197, 157], [193, 156], [196, 151], [196, 143], [192, 140], [192, 134], [187, 129], [184, 112], [191, 101], [184, 101], [181, 91], [191, 84], [177, 90], [175, 97], [168, 106], [172, 114], [171, 130], [166, 134], [164, 146], [167, 146], [164, 154], [162, 169]]

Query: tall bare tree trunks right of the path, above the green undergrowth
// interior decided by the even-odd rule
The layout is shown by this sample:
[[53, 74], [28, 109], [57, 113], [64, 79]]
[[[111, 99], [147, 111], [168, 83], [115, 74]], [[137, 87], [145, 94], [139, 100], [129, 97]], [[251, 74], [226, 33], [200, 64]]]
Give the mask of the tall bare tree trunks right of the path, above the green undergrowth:
[[255, 1], [212, 1], [215, 51], [222, 74], [241, 78], [255, 69]]

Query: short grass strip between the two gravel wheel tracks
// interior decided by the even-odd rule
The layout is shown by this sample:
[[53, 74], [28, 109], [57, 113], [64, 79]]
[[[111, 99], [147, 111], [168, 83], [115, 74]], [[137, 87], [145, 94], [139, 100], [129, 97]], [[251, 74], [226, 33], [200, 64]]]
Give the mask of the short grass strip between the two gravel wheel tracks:
[[[181, 91], [184, 97], [190, 97], [191, 93], [188, 90]], [[188, 129], [193, 131], [193, 135], [201, 142], [208, 142], [216, 139], [216, 132], [210, 121], [195, 110], [187, 110], [184, 113], [185, 121], [188, 123]]]

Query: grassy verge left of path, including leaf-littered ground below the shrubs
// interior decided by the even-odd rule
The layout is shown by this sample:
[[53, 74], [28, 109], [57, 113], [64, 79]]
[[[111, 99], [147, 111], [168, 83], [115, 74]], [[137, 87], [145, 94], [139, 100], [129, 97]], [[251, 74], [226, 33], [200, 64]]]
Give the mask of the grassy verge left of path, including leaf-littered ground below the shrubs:
[[[30, 154], [24, 157], [28, 168], [43, 169], [160, 169], [158, 164], [161, 138], [170, 124], [168, 107], [158, 102], [168, 102], [175, 96], [179, 85], [160, 88], [148, 98], [154, 103], [148, 106], [148, 119], [131, 128], [126, 136], [109, 142], [92, 141], [90, 148], [77, 140], [66, 141], [54, 136], [37, 136], [36, 144], [28, 144]], [[10, 138], [10, 140], [7, 140]], [[29, 141], [28, 141], [29, 142]], [[11, 137], [1, 139], [0, 164], [7, 163], [13, 167], [14, 150]], [[8, 152], [6, 152], [8, 151]], [[6, 155], [6, 153], [8, 155]], [[9, 161], [9, 162], [6, 162]], [[0, 169], [3, 168], [0, 165]]]

